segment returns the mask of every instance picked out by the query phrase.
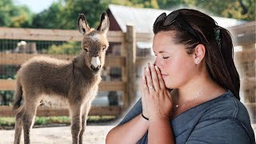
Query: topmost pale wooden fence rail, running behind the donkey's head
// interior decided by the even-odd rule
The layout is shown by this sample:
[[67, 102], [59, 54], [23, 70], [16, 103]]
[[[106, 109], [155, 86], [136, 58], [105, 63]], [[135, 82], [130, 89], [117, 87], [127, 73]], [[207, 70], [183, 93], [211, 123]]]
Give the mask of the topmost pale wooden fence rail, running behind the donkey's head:
[[[149, 42], [153, 34], [137, 33], [138, 42]], [[109, 42], [123, 42], [126, 33], [121, 31], [109, 31], [107, 38]], [[27, 29], [0, 27], [1, 39], [22, 39], [39, 41], [82, 41], [82, 36], [78, 30], [50, 30], [50, 29]]]

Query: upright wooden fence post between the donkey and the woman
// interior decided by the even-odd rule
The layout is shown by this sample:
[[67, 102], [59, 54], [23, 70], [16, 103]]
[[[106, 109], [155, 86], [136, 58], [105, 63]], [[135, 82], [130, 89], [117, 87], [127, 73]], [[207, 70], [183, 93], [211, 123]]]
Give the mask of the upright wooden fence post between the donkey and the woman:
[[135, 81], [136, 81], [136, 45], [135, 45], [135, 29], [134, 26], [126, 26], [126, 74], [127, 74], [127, 96], [128, 101], [125, 102], [125, 108], [130, 106], [136, 98]]

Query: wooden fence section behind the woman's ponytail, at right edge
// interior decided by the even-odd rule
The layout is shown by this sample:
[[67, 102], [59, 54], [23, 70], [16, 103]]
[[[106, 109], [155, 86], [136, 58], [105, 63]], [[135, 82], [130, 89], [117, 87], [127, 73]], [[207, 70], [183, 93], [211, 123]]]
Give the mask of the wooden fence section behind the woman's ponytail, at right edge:
[[250, 113], [251, 122], [256, 123], [256, 21], [230, 27], [234, 46], [241, 51], [234, 53], [234, 62], [241, 78], [242, 102]]

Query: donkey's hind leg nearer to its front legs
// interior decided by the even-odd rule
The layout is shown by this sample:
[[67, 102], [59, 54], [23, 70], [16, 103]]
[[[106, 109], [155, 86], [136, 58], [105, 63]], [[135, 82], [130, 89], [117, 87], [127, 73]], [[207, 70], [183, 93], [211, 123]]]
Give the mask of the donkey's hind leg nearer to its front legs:
[[25, 111], [22, 117], [22, 125], [24, 131], [24, 144], [30, 144], [30, 130], [34, 123], [34, 116], [36, 114], [38, 103], [26, 103]]

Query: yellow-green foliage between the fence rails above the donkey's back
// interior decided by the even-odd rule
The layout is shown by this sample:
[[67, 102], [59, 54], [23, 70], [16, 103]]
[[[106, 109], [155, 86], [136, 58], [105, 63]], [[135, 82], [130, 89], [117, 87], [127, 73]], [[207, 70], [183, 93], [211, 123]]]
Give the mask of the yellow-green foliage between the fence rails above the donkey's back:
[[67, 42], [62, 45], [52, 45], [45, 54], [78, 54], [81, 50], [80, 42]]

